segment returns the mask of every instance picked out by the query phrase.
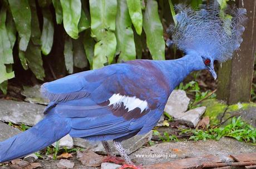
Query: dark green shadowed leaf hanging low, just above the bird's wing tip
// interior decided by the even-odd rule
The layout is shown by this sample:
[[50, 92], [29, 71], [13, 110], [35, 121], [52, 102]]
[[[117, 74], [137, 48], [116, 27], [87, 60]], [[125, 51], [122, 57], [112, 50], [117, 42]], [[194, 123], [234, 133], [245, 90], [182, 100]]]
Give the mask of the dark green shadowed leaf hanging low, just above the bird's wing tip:
[[32, 40], [29, 41], [25, 56], [29, 69], [36, 75], [37, 79], [43, 80], [45, 78], [45, 70], [43, 69], [40, 46], [33, 44]]

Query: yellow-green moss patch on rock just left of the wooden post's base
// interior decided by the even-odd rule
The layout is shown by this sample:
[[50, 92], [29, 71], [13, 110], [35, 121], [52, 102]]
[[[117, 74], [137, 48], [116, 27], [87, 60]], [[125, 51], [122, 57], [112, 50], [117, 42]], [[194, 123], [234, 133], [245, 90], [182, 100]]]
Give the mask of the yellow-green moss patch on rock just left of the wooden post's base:
[[219, 124], [220, 117], [228, 107], [228, 105], [216, 99], [204, 100], [201, 106], [206, 106], [204, 116], [209, 116], [210, 125]]

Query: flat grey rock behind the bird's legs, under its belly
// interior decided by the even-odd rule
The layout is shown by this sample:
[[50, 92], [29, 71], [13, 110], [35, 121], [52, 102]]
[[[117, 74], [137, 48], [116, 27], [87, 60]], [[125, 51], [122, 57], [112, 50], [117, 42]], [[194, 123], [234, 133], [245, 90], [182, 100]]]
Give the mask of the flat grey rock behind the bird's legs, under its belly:
[[[134, 137], [131, 137], [130, 139], [122, 141], [122, 146], [125, 148], [126, 153], [129, 155], [132, 152], [141, 148], [147, 142], [149, 142], [151, 138], [152, 138], [152, 132], [150, 131], [145, 135], [136, 135]], [[111, 151], [114, 152], [116, 155], [119, 155], [119, 152], [116, 151], [111, 141], [109, 141], [109, 144], [111, 147]], [[102, 155], [107, 154], [107, 152], [105, 151], [100, 141], [91, 142], [84, 139], [74, 139], [74, 145], [80, 146], [82, 148], [87, 148], [87, 150], [92, 150]]]

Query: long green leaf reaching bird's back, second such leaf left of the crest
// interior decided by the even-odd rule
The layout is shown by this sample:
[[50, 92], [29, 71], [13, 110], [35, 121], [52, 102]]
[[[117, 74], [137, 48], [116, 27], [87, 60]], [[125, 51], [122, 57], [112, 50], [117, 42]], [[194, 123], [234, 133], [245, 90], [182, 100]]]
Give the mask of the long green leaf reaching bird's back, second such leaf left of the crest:
[[116, 52], [120, 53], [119, 62], [136, 59], [134, 32], [131, 24], [126, 0], [119, 0], [116, 15]]

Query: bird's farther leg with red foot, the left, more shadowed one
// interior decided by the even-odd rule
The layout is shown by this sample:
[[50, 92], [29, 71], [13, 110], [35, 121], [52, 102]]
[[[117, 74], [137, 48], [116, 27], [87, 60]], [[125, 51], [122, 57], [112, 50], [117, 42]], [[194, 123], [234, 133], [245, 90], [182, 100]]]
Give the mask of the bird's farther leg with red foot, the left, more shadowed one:
[[111, 152], [111, 148], [107, 143], [107, 141], [101, 141], [101, 143], [107, 152], [107, 156], [104, 157], [104, 159], [102, 160], [103, 162], [114, 162], [119, 165], [124, 164], [125, 160], [123, 160], [122, 158], [116, 157], [114, 153]]

